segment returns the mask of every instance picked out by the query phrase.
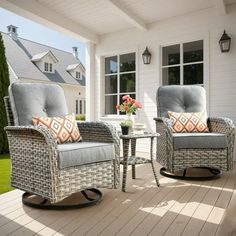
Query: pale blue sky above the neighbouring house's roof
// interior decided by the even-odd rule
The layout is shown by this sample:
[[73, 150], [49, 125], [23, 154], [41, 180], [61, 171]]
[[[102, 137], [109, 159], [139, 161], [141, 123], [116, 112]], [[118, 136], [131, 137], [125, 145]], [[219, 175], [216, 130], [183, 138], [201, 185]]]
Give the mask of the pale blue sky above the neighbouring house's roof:
[[74, 46], [78, 47], [78, 57], [85, 65], [85, 44], [79, 40], [0, 8], [0, 31], [6, 33], [8, 25], [18, 27], [18, 37], [24, 39], [29, 39], [67, 52], [72, 52], [72, 47]]

